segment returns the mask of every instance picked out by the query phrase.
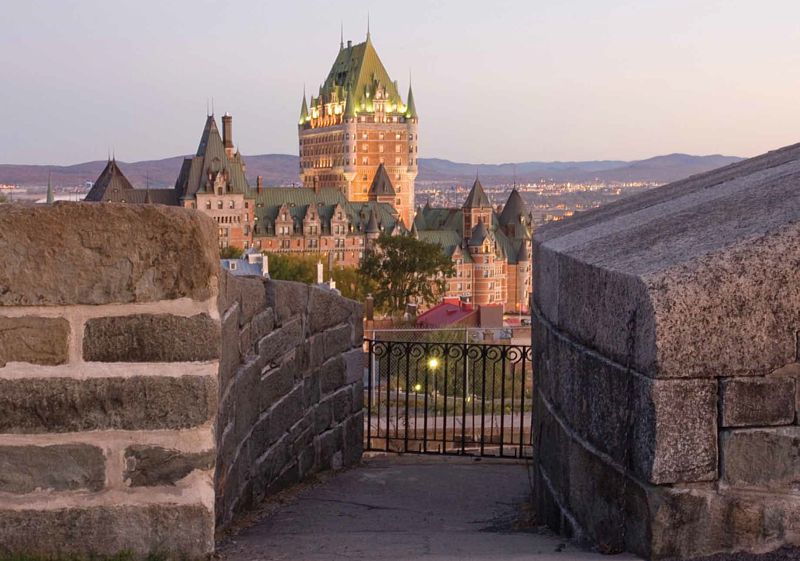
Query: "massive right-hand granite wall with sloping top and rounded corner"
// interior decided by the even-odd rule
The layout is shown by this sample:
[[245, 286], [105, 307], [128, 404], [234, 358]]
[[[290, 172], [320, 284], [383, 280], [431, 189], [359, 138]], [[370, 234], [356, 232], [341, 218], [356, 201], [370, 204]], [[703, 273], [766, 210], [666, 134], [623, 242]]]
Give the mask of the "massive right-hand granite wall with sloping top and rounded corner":
[[650, 559], [800, 545], [800, 145], [541, 228], [535, 503]]

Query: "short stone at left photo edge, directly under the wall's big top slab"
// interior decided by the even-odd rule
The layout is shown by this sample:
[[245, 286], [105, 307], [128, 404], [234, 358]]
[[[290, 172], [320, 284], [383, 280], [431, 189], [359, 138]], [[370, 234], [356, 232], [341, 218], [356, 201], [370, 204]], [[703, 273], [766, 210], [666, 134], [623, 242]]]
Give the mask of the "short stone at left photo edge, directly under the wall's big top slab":
[[0, 367], [7, 362], [64, 364], [69, 359], [69, 331], [69, 322], [62, 318], [0, 317]]

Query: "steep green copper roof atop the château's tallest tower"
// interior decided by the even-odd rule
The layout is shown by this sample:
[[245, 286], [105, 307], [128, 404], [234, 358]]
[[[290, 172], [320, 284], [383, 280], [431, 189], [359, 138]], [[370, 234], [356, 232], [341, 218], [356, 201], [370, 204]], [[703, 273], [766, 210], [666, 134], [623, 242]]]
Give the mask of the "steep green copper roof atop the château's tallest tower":
[[[397, 86], [383, 66], [372, 40], [352, 45], [339, 51], [336, 60], [320, 88], [320, 95], [330, 98], [335, 93], [339, 99], [352, 92], [354, 110], [367, 110], [379, 86], [386, 90], [386, 99], [392, 104], [402, 105], [403, 100]], [[347, 109], [348, 111], [350, 108]]]

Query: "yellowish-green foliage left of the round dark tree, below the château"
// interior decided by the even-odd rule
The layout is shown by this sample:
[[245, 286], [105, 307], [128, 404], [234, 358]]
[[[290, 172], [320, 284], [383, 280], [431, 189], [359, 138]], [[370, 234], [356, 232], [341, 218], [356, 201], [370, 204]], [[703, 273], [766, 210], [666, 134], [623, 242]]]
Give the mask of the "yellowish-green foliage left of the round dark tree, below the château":
[[313, 255], [308, 253], [267, 253], [269, 259], [269, 276], [277, 280], [291, 280], [314, 284], [317, 282], [317, 263], [322, 261], [323, 278], [328, 280], [333, 276], [336, 288], [345, 298], [363, 301], [365, 293], [355, 267], [340, 267], [334, 265], [333, 275], [328, 267], [325, 254]]

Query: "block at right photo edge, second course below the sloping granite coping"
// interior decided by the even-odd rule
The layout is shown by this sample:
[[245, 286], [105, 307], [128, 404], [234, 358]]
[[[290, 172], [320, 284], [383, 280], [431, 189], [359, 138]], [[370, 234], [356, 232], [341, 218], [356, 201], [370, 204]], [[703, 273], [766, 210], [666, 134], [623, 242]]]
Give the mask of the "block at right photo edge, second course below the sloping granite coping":
[[728, 430], [720, 440], [728, 485], [800, 492], [800, 427]]

